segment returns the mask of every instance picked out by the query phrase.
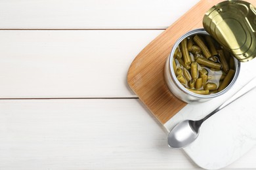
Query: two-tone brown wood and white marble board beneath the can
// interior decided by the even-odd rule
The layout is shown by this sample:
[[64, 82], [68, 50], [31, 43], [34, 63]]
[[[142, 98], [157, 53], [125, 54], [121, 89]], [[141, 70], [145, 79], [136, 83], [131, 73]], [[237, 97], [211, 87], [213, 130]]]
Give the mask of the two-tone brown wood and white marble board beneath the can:
[[[188, 105], [177, 99], [165, 85], [163, 69], [173, 44], [184, 33], [202, 28], [205, 12], [219, 2], [221, 1], [200, 1], [150, 42], [138, 54], [129, 68], [127, 75], [129, 86], [168, 131], [182, 120], [198, 120], [207, 115], [244, 86], [251, 76], [256, 76], [253, 69], [256, 65], [255, 59], [242, 63], [240, 75], [232, 90], [221, 97], [198, 105]], [[248, 2], [256, 5], [256, 0]], [[256, 95], [256, 91], [254, 94]], [[248, 101], [254, 101], [254, 99]], [[251, 107], [244, 107], [246, 104], [243, 102], [239, 101], [231, 108], [227, 107], [215, 114], [216, 116], [212, 116], [207, 120], [207, 124], [203, 124], [198, 139], [184, 148], [186, 154], [197, 165], [205, 169], [225, 167], [256, 144], [256, 131], [254, 130], [256, 129], [256, 114], [252, 111], [256, 108], [253, 108], [253, 103], [251, 103]], [[228, 120], [228, 124], [226, 124], [226, 120]]]

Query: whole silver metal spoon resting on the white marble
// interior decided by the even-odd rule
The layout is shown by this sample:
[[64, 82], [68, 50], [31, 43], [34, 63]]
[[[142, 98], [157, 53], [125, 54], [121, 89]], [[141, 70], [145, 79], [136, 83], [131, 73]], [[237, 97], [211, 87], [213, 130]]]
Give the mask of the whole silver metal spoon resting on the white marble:
[[199, 135], [199, 129], [202, 123], [211, 117], [213, 114], [223, 109], [245, 93], [253, 90], [256, 87], [256, 78], [250, 80], [245, 86], [243, 86], [238, 92], [236, 92], [230, 99], [226, 100], [217, 109], [213, 110], [210, 114], [202, 118], [201, 120], [184, 120], [171, 129], [168, 135], [168, 144], [171, 148], [183, 148], [188, 144], [194, 142]]

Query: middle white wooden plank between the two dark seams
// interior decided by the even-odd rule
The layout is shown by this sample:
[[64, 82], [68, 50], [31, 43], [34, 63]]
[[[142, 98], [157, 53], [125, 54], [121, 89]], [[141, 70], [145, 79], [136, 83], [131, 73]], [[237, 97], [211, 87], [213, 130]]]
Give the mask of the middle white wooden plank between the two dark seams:
[[161, 30], [0, 31], [0, 97], [136, 97], [126, 75]]

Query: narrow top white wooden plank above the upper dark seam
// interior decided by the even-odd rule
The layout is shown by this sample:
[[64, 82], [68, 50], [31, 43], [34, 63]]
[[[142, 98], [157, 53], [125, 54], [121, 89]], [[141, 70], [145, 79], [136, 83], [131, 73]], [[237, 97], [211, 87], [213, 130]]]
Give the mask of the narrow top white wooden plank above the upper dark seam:
[[163, 29], [199, 0], [0, 1], [0, 29]]

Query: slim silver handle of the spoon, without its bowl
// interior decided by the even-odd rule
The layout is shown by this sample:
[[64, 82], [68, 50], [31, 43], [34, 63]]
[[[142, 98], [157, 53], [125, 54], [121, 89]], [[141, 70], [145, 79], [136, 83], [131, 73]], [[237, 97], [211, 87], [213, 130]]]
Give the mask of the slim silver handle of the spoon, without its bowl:
[[213, 110], [213, 112], [211, 112], [210, 114], [205, 116], [205, 118], [202, 118], [202, 120], [199, 120], [198, 124], [202, 124], [205, 120], [207, 120], [207, 118], [211, 117], [213, 114], [215, 114], [219, 110], [223, 109], [224, 107], [226, 107], [227, 105], [229, 105], [230, 103], [235, 101], [236, 99], [242, 97], [246, 93], [250, 92], [254, 88], [256, 88], [256, 78], [255, 77], [252, 78], [251, 80], [249, 80], [249, 82], [247, 82], [244, 86], [242, 86], [242, 88], [240, 88], [240, 90], [238, 90], [238, 92], [236, 92], [234, 95], [232, 95], [232, 97], [230, 97], [223, 104], [221, 104], [219, 107], [217, 107], [217, 109]]

